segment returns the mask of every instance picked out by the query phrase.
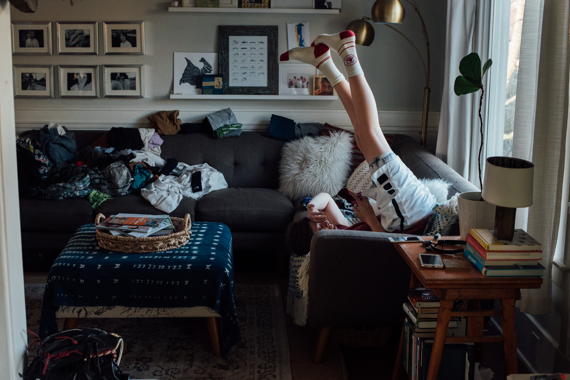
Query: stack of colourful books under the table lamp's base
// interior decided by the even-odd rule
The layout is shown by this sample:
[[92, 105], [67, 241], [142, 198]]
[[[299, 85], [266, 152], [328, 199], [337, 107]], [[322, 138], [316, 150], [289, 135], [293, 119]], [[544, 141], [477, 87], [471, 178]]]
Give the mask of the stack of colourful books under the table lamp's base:
[[483, 276], [542, 276], [541, 245], [522, 229], [512, 240], [499, 240], [492, 229], [472, 228], [463, 255]]

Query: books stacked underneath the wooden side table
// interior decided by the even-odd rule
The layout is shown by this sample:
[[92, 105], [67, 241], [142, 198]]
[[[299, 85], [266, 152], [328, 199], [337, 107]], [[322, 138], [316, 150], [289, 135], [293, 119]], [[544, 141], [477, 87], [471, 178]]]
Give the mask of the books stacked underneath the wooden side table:
[[[417, 288], [408, 290], [408, 302], [404, 303], [404, 342], [402, 357], [404, 367], [412, 380], [425, 379], [431, 346], [437, 325], [439, 298], [433, 290]], [[458, 320], [451, 318], [447, 327], [447, 336], [459, 336]], [[449, 364], [448, 364], [449, 362]], [[443, 350], [442, 365], [449, 377], [473, 379], [473, 346], [470, 344], [446, 344]], [[441, 372], [441, 370], [440, 370]]]

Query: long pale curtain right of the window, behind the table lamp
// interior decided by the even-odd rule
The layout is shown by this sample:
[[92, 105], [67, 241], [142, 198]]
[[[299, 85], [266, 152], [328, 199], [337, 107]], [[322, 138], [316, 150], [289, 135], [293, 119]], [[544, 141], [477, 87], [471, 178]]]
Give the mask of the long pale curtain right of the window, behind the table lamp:
[[519, 210], [516, 224], [542, 243], [546, 268], [540, 289], [522, 291], [520, 311], [528, 314], [551, 312], [567, 150], [569, 15], [570, 0], [524, 6], [512, 156], [534, 163], [535, 177], [533, 204]]

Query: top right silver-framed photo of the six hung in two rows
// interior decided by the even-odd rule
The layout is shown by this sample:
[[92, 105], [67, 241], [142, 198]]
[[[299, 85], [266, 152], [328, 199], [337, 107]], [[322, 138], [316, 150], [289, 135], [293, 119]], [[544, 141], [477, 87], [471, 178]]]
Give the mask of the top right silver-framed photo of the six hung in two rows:
[[104, 22], [103, 54], [144, 55], [144, 21]]

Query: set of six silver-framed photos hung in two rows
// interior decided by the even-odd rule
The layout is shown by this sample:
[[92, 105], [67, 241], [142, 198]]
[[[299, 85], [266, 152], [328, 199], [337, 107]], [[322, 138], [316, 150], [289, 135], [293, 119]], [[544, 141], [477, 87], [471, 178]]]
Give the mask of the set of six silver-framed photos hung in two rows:
[[[99, 26], [103, 30], [101, 41], [99, 41]], [[144, 65], [136, 63], [74, 65], [71, 57], [74, 55], [144, 55], [143, 21], [14, 21], [11, 39], [13, 55], [70, 56], [62, 60], [68, 64], [13, 65], [14, 97], [144, 97]]]

